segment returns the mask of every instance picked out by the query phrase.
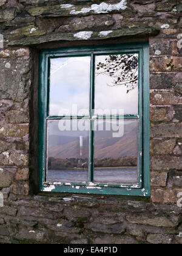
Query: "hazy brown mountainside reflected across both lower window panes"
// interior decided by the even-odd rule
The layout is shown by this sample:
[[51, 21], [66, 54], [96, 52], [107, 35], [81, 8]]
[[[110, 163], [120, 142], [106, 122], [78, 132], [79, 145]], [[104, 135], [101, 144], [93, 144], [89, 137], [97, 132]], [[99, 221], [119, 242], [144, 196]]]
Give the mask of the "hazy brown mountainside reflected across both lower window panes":
[[[95, 132], [95, 158], [137, 157], [138, 123], [126, 122], [124, 136], [113, 138], [112, 132]], [[50, 135], [49, 157], [79, 158], [79, 137]], [[83, 158], [89, 155], [89, 137], [83, 138]]]

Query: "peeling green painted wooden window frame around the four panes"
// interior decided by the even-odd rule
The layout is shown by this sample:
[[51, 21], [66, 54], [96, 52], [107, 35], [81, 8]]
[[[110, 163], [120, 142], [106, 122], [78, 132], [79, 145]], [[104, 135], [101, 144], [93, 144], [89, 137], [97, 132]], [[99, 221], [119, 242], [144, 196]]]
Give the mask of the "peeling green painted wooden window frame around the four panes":
[[[50, 58], [62, 56], [91, 56], [90, 98], [94, 96], [95, 55], [99, 54], [139, 54], [139, 115], [123, 118], [140, 119], [139, 163], [140, 176], [138, 185], [115, 185], [89, 182], [85, 185], [64, 182], [45, 182], [46, 122], [47, 119], [59, 119], [49, 116], [49, 72]], [[39, 88], [38, 88], [38, 163], [39, 190], [68, 193], [118, 194], [124, 196], [150, 196], [149, 169], [149, 43], [106, 44], [103, 46], [80, 46], [58, 49], [42, 49], [39, 54]], [[92, 100], [90, 102], [93, 102]], [[92, 108], [90, 107], [90, 110]], [[78, 117], [76, 117], [78, 118]], [[91, 137], [93, 140], [92, 132]], [[93, 154], [92, 154], [93, 155]], [[92, 161], [93, 162], [93, 161]], [[93, 169], [93, 166], [91, 166]], [[92, 179], [92, 175], [90, 176]]]

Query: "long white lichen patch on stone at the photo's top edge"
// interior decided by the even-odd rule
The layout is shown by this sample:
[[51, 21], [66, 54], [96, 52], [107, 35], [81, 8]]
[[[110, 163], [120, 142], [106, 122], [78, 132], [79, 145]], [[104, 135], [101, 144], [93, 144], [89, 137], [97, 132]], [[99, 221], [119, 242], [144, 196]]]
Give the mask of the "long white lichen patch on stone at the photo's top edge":
[[127, 1], [121, 0], [118, 4], [106, 4], [106, 2], [101, 2], [101, 4], [92, 4], [89, 8], [83, 8], [80, 11], [72, 10], [70, 14], [84, 14], [93, 11], [94, 13], [109, 13], [112, 10], [125, 10]]

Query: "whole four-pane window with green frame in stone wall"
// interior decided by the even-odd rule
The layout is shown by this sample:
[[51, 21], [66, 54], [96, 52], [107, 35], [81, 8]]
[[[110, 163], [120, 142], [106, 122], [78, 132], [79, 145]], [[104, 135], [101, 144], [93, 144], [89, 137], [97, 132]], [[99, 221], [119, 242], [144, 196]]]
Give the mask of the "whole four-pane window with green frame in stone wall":
[[150, 196], [147, 43], [44, 49], [41, 191]]

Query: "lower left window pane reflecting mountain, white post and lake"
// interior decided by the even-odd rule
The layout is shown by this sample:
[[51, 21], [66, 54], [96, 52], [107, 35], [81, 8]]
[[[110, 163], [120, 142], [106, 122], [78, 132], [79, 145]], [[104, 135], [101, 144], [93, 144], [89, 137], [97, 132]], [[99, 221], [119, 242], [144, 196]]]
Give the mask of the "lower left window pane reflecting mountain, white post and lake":
[[[76, 122], [47, 121], [47, 181], [88, 181], [89, 131], [73, 130]], [[87, 120], [78, 122], [89, 127]]]

